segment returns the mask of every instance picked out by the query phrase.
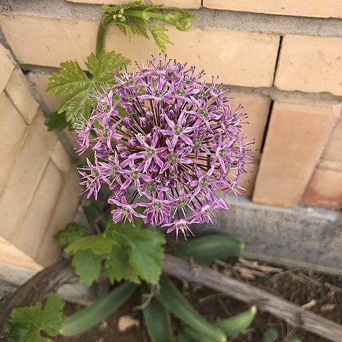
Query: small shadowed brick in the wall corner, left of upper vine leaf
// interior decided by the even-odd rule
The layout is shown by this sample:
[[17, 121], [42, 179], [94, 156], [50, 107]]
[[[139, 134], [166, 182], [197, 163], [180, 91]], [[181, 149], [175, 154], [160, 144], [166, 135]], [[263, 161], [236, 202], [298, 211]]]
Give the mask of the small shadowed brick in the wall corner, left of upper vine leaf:
[[48, 88], [48, 78], [52, 76], [52, 73], [43, 72], [30, 72], [27, 74], [28, 80], [33, 84], [36, 92], [44, 101], [46, 106], [51, 112], [58, 110], [59, 103], [61, 102], [63, 95], [46, 94], [45, 90]]

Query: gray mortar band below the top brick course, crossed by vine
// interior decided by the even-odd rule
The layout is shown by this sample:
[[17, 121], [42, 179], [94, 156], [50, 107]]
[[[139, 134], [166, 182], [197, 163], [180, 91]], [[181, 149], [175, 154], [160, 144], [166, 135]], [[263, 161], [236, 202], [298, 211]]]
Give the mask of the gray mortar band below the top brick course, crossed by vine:
[[[199, 21], [194, 22], [197, 27], [276, 33], [281, 36], [299, 34], [342, 37], [342, 19], [276, 16], [214, 9], [190, 12], [199, 18]], [[102, 15], [97, 5], [74, 4], [64, 0], [0, 0], [0, 13], [88, 20], [99, 20]]]

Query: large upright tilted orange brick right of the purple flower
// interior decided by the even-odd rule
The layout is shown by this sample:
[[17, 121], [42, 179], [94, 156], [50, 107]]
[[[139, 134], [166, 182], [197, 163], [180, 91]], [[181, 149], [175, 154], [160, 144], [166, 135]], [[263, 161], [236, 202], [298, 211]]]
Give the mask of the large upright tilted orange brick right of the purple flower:
[[341, 105], [274, 103], [253, 201], [295, 207]]

